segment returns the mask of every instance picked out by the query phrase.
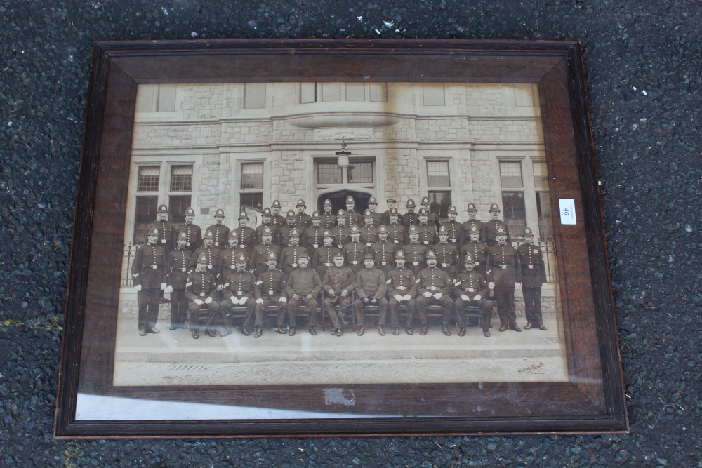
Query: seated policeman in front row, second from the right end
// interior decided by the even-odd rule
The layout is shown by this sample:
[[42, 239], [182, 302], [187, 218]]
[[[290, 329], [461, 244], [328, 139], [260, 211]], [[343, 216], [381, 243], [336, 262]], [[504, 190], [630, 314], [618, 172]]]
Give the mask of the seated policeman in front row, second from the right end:
[[427, 268], [417, 275], [416, 311], [422, 325], [420, 335], [427, 334], [427, 306], [438, 304], [444, 309], [441, 330], [444, 335], [451, 336], [449, 331], [449, 319], [451, 312], [453, 312], [453, 300], [449, 296], [451, 286], [451, 278], [444, 270], [437, 268], [437, 256], [432, 250], [429, 250], [427, 252]]

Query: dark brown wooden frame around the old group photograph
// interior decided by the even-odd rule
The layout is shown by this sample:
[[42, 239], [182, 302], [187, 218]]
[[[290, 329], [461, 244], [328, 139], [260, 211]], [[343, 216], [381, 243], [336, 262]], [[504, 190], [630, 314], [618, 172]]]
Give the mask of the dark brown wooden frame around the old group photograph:
[[[350, 380], [330, 386], [305, 384], [301, 376], [296, 384], [279, 385], [114, 385], [124, 273], [119, 265], [124, 261], [126, 213], [133, 189], [129, 181], [134, 180], [131, 161], [138, 86], [346, 82], [416, 86], [518, 83], [538, 90], [534, 91], [538, 98], [534, 108], [543, 132], [550, 222], [559, 253], [556, 287], [562, 311], [559, 326], [566, 379], [437, 383]], [[575, 224], [562, 222], [559, 203], [567, 200], [573, 203]], [[465, 204], [459, 209], [464, 210]], [[527, 333], [535, 332], [522, 335]], [[346, 338], [345, 346], [352, 345], [355, 337], [340, 339]], [[330, 406], [328, 402], [325, 406], [325, 389], [330, 387], [342, 392], [342, 399], [351, 394], [348, 398], [353, 406]], [[103, 405], [114, 401], [118, 407], [112, 413], [116, 416], [100, 420], [77, 417], [79, 399], [86, 395], [99, 397]], [[95, 44], [69, 269], [56, 437], [627, 432], [623, 396], [578, 42], [284, 39]], [[130, 401], [303, 413], [296, 417], [225, 420], [184, 420], [165, 413], [163, 418], [146, 420], [119, 417], [119, 408]], [[312, 413], [317, 415], [305, 416]]]

